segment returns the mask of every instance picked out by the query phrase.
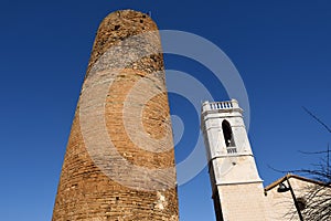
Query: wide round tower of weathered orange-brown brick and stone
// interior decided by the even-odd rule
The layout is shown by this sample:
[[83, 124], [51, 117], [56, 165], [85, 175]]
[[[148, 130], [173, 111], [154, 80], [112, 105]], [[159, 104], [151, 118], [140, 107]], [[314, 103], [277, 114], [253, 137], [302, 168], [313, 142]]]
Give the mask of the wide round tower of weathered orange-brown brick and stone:
[[156, 23], [100, 23], [75, 112], [53, 221], [178, 220], [174, 152]]

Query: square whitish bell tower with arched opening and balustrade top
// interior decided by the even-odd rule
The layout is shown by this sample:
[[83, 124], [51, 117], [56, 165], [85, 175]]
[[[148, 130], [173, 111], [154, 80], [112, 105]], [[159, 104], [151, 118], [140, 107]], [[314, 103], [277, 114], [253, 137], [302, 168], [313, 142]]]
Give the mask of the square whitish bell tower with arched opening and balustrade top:
[[201, 129], [217, 221], [258, 221], [265, 218], [259, 178], [237, 101], [205, 102]]

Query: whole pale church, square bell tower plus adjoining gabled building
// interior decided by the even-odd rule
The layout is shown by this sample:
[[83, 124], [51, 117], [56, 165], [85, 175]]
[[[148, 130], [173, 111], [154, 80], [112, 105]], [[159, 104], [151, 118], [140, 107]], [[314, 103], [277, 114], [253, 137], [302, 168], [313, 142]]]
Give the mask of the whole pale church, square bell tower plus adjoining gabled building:
[[204, 102], [201, 129], [216, 221], [303, 220], [307, 190], [323, 183], [287, 175], [264, 187], [237, 101]]

